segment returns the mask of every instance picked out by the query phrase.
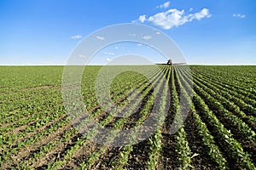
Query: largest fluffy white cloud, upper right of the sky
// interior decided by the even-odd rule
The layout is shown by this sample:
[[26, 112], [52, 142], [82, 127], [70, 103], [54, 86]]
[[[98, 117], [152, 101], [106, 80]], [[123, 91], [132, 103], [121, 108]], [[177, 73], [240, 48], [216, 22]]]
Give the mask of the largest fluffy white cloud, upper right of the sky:
[[200, 12], [194, 14], [185, 14], [184, 10], [171, 8], [165, 12], [160, 12], [145, 18], [144, 21], [152, 22], [155, 26], [160, 26], [163, 29], [169, 30], [174, 26], [182, 26], [183, 24], [192, 20], [201, 20], [203, 18], [210, 18], [209, 9], [203, 8]]

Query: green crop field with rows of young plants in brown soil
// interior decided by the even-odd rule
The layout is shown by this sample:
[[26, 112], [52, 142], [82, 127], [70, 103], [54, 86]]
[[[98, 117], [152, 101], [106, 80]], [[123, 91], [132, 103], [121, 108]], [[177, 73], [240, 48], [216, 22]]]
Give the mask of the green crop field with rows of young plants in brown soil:
[[[111, 99], [119, 108], [132, 100], [130, 110], [136, 110], [133, 88], [143, 98], [135, 114], [121, 118], [97, 102], [95, 80], [102, 67], [84, 70], [84, 108], [102, 127], [113, 129], [113, 139], [117, 131], [137, 129], [147, 119], [154, 92], [162, 94], [158, 111], [165, 111], [170, 89], [167, 115], [159, 116], [162, 124], [154, 134], [112, 147], [96, 144], [94, 133], [82, 135], [70, 121], [61, 95], [64, 66], [1, 66], [0, 169], [256, 169], [256, 66], [191, 65], [193, 79], [183, 65], [159, 65], [158, 71], [151, 65], [134, 67], [148, 72], [152, 82], [136, 71], [113, 79]], [[190, 105], [189, 114], [171, 134], [183, 105]]]

